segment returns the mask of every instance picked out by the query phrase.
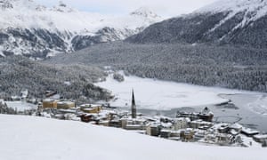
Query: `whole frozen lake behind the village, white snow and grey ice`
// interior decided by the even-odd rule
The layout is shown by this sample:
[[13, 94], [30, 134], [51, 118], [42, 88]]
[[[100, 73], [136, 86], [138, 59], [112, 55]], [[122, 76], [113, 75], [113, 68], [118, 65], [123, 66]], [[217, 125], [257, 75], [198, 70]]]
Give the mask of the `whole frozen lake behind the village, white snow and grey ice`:
[[[129, 109], [134, 89], [139, 112], [149, 115], [175, 116], [177, 110], [200, 111], [209, 107], [214, 120], [239, 122], [247, 127], [267, 132], [267, 96], [263, 92], [246, 92], [216, 87], [166, 82], [136, 76], [125, 76], [117, 82], [109, 76], [97, 85], [108, 89], [116, 100], [110, 105]], [[231, 100], [233, 107], [218, 105]]]

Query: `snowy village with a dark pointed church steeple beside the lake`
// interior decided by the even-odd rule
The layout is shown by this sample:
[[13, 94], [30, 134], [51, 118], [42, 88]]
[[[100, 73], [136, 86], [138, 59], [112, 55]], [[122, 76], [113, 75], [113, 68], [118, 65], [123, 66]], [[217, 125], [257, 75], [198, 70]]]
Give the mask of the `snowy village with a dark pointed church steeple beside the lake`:
[[12, 97], [12, 101], [27, 101], [36, 108], [18, 111], [0, 100], [0, 114], [44, 116], [60, 120], [81, 121], [106, 127], [122, 128], [149, 136], [183, 142], [231, 147], [267, 147], [267, 134], [238, 123], [214, 123], [209, 108], [201, 112], [177, 112], [176, 117], [149, 116], [137, 112], [134, 90], [130, 111], [109, 104], [77, 105], [74, 100], [60, 100], [56, 92], [45, 92], [44, 100], [28, 100], [28, 91]]

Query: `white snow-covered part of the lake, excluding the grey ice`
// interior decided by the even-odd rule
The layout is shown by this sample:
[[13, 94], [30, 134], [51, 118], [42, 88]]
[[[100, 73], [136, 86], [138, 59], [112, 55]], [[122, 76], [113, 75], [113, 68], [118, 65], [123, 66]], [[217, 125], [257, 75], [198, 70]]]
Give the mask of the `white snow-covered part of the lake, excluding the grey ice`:
[[107, 81], [97, 85], [115, 94], [117, 100], [111, 101], [112, 106], [127, 107], [125, 104], [129, 106], [131, 91], [134, 89], [139, 108], [158, 110], [220, 104], [228, 101], [219, 97], [220, 93], [244, 93], [237, 90], [181, 84], [137, 76], [125, 76], [125, 81], [119, 83], [110, 75]]

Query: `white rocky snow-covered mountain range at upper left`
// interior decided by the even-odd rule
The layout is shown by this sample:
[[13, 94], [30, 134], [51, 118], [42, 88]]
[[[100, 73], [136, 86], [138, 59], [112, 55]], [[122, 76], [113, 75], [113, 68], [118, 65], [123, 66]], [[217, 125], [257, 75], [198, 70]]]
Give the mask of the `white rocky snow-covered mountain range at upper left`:
[[80, 12], [62, 2], [49, 8], [33, 0], [1, 0], [0, 14], [0, 55], [39, 58], [122, 40], [162, 20], [145, 8], [109, 16]]

